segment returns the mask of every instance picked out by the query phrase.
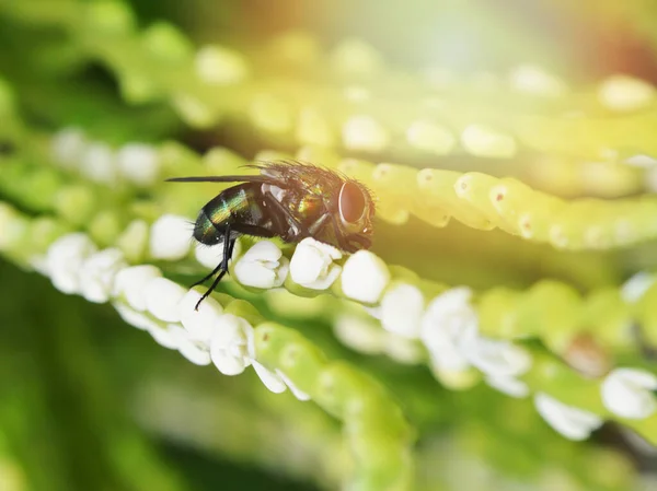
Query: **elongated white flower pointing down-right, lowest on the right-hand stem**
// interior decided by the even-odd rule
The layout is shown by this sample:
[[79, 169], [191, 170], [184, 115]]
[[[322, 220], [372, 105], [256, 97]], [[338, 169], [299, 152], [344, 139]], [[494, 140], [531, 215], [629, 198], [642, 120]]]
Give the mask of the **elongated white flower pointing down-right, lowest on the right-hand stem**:
[[597, 414], [567, 406], [543, 393], [534, 396], [534, 405], [543, 419], [568, 440], [586, 440], [602, 424]]

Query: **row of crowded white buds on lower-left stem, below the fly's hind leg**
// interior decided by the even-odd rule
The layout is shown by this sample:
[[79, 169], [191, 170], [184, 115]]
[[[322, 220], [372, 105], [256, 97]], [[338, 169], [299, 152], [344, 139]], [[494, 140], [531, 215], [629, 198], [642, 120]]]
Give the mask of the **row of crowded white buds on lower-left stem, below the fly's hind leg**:
[[201, 294], [164, 278], [154, 266], [128, 266], [119, 249], [99, 252], [89, 236], [73, 233], [50, 245], [44, 271], [65, 293], [112, 302], [126, 323], [148, 331], [159, 344], [177, 350], [192, 363], [214, 363], [226, 375], [252, 365], [272, 391], [289, 388], [299, 399], [309, 399], [285, 373], [256, 361], [254, 328], [246, 319], [224, 313], [211, 296], [197, 309]]

